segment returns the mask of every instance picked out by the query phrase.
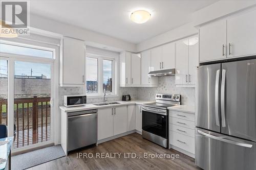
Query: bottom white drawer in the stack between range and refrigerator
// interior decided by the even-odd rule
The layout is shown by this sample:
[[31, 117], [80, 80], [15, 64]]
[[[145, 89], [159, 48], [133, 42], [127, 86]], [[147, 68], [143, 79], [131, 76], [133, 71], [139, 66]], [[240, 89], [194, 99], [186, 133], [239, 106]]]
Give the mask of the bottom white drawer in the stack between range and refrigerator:
[[195, 138], [170, 131], [170, 144], [195, 154]]

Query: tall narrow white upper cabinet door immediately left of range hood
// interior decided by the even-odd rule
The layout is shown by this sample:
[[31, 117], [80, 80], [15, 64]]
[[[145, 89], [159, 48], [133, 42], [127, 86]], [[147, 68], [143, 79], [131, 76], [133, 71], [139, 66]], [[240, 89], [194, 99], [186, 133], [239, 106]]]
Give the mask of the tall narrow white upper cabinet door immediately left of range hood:
[[148, 77], [148, 72], [150, 72], [151, 66], [151, 51], [144, 51], [141, 53], [141, 84], [150, 84], [150, 77]]

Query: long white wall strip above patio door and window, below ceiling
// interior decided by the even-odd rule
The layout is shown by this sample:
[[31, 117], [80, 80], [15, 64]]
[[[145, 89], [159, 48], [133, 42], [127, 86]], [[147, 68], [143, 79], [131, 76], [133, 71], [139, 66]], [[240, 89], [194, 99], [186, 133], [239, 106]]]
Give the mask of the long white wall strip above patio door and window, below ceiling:
[[96, 33], [83, 28], [75, 27], [62, 23], [59, 21], [47, 19], [41, 16], [32, 15], [30, 16], [30, 23], [33, 28], [45, 30], [77, 39], [84, 40], [86, 42], [94, 42], [102, 44], [102, 46], [111, 46], [120, 51], [136, 51], [136, 45], [130, 42], [126, 42], [117, 38], [113, 38], [107, 35]]

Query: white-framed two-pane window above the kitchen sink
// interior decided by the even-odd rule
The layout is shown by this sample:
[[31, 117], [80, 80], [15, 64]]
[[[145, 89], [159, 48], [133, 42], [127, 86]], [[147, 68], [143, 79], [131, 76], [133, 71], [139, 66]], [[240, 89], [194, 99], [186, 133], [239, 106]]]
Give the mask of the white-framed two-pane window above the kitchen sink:
[[87, 47], [86, 53], [86, 94], [89, 98], [106, 95], [117, 96], [119, 54]]

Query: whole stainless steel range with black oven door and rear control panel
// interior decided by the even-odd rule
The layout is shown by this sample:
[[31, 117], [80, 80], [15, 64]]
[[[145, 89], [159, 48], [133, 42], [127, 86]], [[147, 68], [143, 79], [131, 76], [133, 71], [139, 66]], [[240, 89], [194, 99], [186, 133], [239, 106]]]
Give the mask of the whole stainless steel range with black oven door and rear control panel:
[[142, 106], [142, 137], [168, 147], [168, 107], [180, 105], [180, 94], [156, 94], [156, 102]]

